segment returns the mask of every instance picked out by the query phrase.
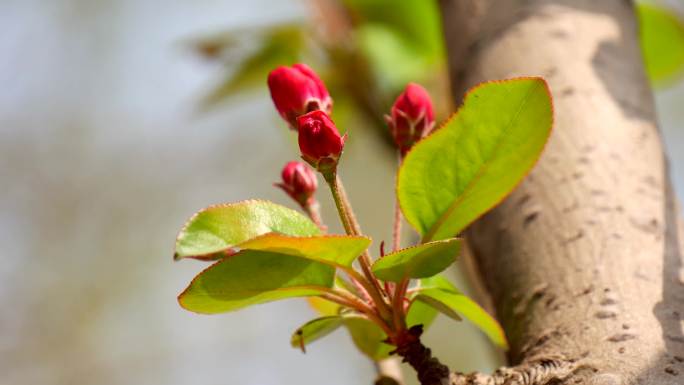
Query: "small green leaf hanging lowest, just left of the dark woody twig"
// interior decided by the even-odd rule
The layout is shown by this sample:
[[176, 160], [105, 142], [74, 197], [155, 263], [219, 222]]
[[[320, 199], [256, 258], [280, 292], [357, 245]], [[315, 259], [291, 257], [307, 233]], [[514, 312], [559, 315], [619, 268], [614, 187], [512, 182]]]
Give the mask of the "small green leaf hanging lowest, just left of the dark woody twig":
[[394, 347], [382, 341], [387, 339], [387, 334], [367, 318], [347, 315], [344, 317], [344, 326], [354, 341], [354, 345], [365, 355], [373, 360], [381, 360], [389, 356]]

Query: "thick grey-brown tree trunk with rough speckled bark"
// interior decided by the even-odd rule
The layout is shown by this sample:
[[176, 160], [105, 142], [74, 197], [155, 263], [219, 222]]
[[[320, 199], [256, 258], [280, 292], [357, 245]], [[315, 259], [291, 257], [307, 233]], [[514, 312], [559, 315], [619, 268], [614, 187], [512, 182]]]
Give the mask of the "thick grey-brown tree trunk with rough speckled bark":
[[451, 382], [684, 384], [684, 226], [633, 4], [441, 7], [455, 100], [480, 81], [542, 75], [555, 103], [539, 164], [467, 233], [517, 366]]

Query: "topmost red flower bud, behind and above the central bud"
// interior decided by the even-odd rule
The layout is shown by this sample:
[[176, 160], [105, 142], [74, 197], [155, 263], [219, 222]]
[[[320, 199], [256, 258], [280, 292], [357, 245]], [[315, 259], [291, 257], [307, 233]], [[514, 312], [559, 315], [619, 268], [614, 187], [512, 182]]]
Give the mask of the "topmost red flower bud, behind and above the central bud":
[[323, 81], [306, 64], [278, 67], [268, 74], [268, 88], [280, 116], [297, 127], [297, 117], [307, 112], [332, 111], [332, 98]]

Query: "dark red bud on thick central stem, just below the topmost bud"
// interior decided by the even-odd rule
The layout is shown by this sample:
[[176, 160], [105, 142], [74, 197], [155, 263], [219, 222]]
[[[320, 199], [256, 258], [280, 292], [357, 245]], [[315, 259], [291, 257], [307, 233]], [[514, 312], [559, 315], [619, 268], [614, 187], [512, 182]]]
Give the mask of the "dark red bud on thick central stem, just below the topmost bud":
[[341, 137], [335, 123], [323, 111], [300, 116], [297, 127], [302, 158], [322, 173], [334, 171], [347, 135]]

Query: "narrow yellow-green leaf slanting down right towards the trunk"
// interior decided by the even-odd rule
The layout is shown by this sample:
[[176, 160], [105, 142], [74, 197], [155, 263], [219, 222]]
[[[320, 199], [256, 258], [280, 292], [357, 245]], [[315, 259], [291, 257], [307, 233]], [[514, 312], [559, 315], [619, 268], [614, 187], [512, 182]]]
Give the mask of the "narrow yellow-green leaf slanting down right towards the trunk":
[[[413, 298], [433, 306], [451, 318], [460, 319], [459, 314], [462, 315], [482, 330], [494, 344], [508, 349], [506, 336], [496, 319], [456, 289], [446, 278], [435, 276], [421, 280], [421, 286], [414, 292]], [[426, 301], [426, 298], [430, 299]]]

